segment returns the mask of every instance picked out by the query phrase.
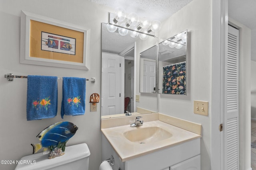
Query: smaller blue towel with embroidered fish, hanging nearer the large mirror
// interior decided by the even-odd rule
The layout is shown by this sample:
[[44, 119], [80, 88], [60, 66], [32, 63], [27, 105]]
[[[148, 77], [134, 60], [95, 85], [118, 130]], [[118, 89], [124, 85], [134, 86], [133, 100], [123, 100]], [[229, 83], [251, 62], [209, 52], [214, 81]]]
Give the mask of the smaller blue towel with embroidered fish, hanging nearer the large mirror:
[[64, 115], [84, 115], [86, 78], [63, 77], [61, 118]]

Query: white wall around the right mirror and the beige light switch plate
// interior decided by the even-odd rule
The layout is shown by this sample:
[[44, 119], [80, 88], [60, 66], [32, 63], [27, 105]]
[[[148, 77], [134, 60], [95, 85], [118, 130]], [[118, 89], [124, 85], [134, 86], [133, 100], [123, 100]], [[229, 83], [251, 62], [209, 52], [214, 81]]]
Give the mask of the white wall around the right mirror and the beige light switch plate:
[[[193, 0], [168, 18], [159, 42], [188, 29], [187, 96], [161, 94], [159, 112], [202, 124], [201, 169], [210, 170], [212, 1]], [[209, 102], [209, 116], [193, 113], [193, 101]]]

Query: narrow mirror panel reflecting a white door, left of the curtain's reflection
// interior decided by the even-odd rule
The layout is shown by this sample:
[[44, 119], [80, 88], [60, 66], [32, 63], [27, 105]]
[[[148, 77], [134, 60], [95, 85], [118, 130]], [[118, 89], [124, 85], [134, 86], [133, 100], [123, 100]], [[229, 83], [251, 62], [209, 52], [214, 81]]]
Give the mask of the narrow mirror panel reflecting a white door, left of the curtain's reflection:
[[140, 92], [156, 93], [156, 45], [140, 53]]

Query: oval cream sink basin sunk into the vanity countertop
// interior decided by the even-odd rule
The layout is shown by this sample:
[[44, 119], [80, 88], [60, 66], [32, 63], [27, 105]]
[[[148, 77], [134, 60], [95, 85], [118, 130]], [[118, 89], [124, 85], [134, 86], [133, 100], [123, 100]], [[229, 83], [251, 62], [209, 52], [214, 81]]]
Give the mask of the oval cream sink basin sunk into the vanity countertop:
[[134, 143], [152, 143], [172, 137], [172, 133], [161, 127], [139, 127], [123, 133], [124, 137]]

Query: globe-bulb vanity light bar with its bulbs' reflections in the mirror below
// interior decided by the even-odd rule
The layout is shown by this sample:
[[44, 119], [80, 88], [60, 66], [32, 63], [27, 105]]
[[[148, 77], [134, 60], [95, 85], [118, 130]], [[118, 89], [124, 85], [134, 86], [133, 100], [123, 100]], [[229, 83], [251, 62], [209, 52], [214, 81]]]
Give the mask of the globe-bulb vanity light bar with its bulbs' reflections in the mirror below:
[[146, 17], [139, 19], [138, 14], [135, 12], [127, 15], [124, 8], [118, 7], [114, 13], [109, 13], [108, 15], [108, 31], [115, 32], [114, 26], [118, 27], [118, 32], [122, 36], [127, 35], [129, 32], [131, 37], [135, 38], [140, 35], [140, 39], [146, 40], [148, 36], [155, 37], [154, 32], [160, 30], [161, 22], [158, 20], [151, 22]]

